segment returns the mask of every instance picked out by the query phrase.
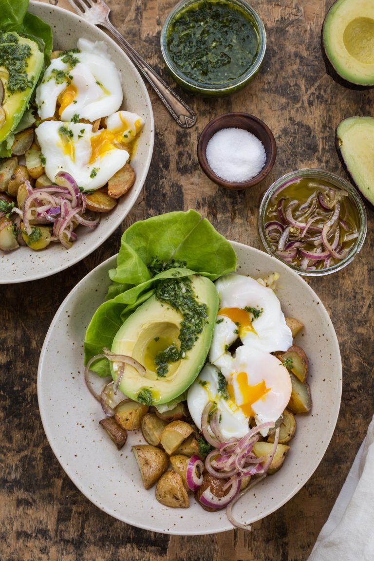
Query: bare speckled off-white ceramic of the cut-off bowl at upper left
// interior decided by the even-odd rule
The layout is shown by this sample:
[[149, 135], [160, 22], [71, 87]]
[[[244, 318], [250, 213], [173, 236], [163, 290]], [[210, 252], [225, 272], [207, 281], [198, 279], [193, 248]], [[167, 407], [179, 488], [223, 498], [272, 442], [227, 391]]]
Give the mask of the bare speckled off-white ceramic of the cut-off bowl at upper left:
[[70, 49], [76, 47], [80, 37], [91, 41], [104, 41], [108, 52], [123, 76], [122, 108], [138, 113], [145, 119], [137, 151], [131, 165], [136, 172], [136, 181], [131, 190], [121, 197], [116, 208], [103, 214], [99, 226], [77, 230], [78, 240], [66, 250], [58, 243], [51, 243], [41, 251], [33, 251], [27, 246], [11, 252], [0, 250], [0, 283], [18, 283], [48, 277], [78, 263], [93, 252], [121, 224], [140, 194], [151, 162], [154, 143], [154, 120], [151, 102], [146, 86], [130, 59], [108, 35], [82, 20], [74, 13], [39, 2], [30, 2], [29, 11], [41, 17], [53, 30], [53, 48]]

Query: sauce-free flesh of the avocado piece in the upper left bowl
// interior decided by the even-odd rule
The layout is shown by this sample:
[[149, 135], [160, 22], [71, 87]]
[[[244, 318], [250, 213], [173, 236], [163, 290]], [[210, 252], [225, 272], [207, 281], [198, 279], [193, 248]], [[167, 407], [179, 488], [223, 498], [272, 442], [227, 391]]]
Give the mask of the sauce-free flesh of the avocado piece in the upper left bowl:
[[[30, 56], [27, 57], [24, 72], [17, 72], [22, 82], [27, 84], [27, 86], [21, 90], [13, 91], [8, 88], [10, 70], [12, 72], [12, 68], [9, 68], [8, 64], [11, 65], [11, 62], [7, 62], [7, 64], [2, 62], [3, 53], [6, 52], [8, 45], [13, 45], [14, 48], [17, 48], [17, 45], [20, 48], [22, 48], [22, 45], [25, 45], [30, 48]], [[25, 112], [36, 82], [39, 80], [41, 70], [43, 69], [44, 54], [40, 52], [38, 45], [34, 41], [21, 37], [14, 32], [0, 35], [0, 53], [0, 80], [3, 86], [3, 100], [1, 105], [4, 111], [4, 120], [0, 127], [0, 142], [2, 142], [10, 132], [16, 128]]]

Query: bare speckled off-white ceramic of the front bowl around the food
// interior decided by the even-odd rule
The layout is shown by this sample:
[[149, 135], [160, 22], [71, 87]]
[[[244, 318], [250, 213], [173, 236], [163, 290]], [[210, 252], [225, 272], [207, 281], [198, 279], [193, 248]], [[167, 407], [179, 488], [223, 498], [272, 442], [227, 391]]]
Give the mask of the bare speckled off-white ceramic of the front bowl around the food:
[[[255, 278], [280, 273], [276, 293], [285, 315], [303, 321], [295, 338], [310, 359], [313, 399], [308, 415], [297, 415], [297, 432], [281, 469], [236, 504], [241, 523], [252, 523], [286, 503], [311, 477], [334, 433], [341, 398], [341, 360], [333, 324], [315, 292], [278, 259], [233, 243], [238, 273]], [[197, 535], [232, 530], [225, 511], [209, 513], [191, 497], [188, 509], [167, 508], [145, 490], [131, 452], [144, 443], [128, 433], [121, 452], [99, 426], [100, 404], [86, 388], [82, 342], [96, 308], [104, 301], [112, 257], [91, 271], [57, 311], [45, 338], [38, 371], [38, 400], [45, 434], [58, 461], [87, 498], [108, 514], [146, 530]], [[63, 358], [63, 360], [62, 360]], [[327, 474], [326, 474], [327, 476]]]

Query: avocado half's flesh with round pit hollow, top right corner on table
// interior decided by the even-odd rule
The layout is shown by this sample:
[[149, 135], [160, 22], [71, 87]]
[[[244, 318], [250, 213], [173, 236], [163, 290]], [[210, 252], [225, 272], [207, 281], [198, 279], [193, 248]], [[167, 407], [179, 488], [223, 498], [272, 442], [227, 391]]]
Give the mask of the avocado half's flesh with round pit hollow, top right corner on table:
[[327, 12], [322, 44], [341, 78], [352, 84], [374, 85], [373, 0], [337, 0]]

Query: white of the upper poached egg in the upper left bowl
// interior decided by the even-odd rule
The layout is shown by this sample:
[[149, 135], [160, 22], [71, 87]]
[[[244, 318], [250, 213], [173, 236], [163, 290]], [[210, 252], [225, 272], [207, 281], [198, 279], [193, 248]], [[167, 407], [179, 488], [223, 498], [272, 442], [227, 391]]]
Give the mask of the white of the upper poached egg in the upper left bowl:
[[[42, 120], [54, 116], [57, 98], [68, 86], [72, 86], [76, 95], [71, 103], [63, 109], [59, 119], [71, 121], [74, 116], [87, 121], [118, 111], [123, 100], [122, 81], [116, 65], [110, 59], [105, 43], [79, 39], [79, 52], [73, 53], [77, 59], [75, 65], [64, 62], [64, 55], [52, 59], [36, 89], [35, 100]], [[56, 71], [65, 74], [64, 79], [57, 79]]]

